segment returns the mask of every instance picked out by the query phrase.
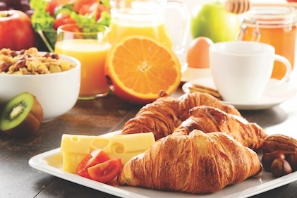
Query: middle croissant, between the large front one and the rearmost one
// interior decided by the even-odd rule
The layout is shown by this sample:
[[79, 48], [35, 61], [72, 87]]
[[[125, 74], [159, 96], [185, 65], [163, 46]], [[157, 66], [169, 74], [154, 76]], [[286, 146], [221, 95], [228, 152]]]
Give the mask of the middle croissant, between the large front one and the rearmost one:
[[192, 116], [183, 121], [174, 133], [188, 135], [193, 129], [203, 132], [226, 132], [250, 149], [262, 147], [267, 137], [265, 130], [256, 123], [249, 123], [241, 116], [235, 116], [211, 106], [196, 106], [189, 112]]

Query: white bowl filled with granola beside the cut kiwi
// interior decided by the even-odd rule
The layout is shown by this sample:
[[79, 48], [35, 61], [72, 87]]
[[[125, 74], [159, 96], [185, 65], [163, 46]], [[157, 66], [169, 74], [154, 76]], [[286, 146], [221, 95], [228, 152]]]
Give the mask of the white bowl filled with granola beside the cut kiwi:
[[[0, 89], [0, 106], [20, 93], [29, 92], [42, 106], [43, 121], [49, 121], [75, 105], [80, 91], [78, 59], [34, 48], [24, 51], [3, 49], [0, 50], [0, 65], [5, 64], [8, 69], [0, 71], [0, 85], [4, 85]], [[56, 67], [58, 70], [54, 70], [54, 66], [59, 66]]]

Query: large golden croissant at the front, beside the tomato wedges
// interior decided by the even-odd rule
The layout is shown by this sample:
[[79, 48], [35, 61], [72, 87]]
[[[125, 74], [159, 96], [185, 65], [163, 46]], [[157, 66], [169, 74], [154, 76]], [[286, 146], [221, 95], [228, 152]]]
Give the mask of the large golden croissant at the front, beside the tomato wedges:
[[128, 161], [120, 185], [205, 194], [260, 173], [257, 154], [224, 132], [168, 135]]

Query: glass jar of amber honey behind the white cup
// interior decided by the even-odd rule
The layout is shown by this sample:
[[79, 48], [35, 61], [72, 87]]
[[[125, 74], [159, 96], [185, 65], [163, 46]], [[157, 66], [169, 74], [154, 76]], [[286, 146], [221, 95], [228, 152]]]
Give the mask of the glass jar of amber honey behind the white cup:
[[[296, 46], [296, 10], [284, 6], [255, 6], [243, 14], [239, 40], [271, 44], [275, 53], [289, 59], [292, 69]], [[286, 67], [274, 62], [272, 78], [281, 79]]]

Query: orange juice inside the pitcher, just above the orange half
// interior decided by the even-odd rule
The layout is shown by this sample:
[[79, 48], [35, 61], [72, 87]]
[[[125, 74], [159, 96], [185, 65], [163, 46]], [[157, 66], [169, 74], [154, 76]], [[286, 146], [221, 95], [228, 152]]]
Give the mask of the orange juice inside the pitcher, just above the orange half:
[[116, 39], [126, 37], [128, 35], [143, 35], [157, 39], [167, 47], [172, 48], [172, 40], [166, 30], [164, 23], [136, 23], [129, 20], [111, 20], [109, 25], [109, 42], [113, 43]]

